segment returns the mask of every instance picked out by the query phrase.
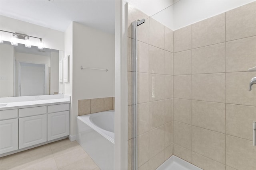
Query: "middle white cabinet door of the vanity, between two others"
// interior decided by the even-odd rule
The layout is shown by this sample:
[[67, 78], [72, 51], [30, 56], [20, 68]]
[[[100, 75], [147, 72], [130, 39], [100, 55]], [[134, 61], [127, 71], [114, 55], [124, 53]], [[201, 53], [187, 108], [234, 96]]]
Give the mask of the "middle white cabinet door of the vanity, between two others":
[[19, 149], [47, 141], [47, 116], [37, 115], [19, 119]]

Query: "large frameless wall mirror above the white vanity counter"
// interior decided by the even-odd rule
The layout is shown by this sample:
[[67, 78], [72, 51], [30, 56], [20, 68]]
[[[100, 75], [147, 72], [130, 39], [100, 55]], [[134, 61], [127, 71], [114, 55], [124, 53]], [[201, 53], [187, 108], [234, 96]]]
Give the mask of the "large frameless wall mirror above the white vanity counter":
[[62, 51], [4, 41], [0, 44], [0, 97], [62, 94], [62, 59]]

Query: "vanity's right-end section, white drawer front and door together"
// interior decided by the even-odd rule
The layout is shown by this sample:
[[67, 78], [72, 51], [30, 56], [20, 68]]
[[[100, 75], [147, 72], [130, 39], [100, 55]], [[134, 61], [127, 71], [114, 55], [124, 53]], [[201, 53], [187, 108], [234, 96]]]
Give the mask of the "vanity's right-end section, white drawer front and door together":
[[48, 106], [48, 141], [69, 135], [69, 104]]

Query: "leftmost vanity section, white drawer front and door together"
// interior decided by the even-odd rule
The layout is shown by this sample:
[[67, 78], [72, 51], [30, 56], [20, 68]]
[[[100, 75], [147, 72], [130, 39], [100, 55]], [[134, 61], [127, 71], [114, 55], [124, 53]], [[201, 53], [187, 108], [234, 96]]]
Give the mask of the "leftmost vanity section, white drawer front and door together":
[[18, 109], [0, 111], [0, 154], [18, 149]]

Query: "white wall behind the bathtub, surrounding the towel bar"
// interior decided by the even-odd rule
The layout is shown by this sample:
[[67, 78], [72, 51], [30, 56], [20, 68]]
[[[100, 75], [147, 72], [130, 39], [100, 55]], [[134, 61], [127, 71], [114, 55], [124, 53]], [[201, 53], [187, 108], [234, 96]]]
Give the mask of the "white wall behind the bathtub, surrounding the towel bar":
[[[65, 31], [65, 56], [70, 55], [70, 135], [76, 135], [78, 100], [114, 96], [114, 35], [73, 22]], [[108, 68], [81, 70], [80, 66]]]

